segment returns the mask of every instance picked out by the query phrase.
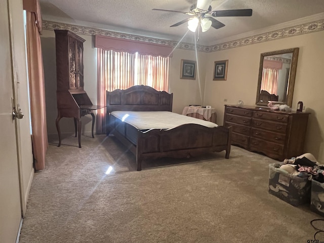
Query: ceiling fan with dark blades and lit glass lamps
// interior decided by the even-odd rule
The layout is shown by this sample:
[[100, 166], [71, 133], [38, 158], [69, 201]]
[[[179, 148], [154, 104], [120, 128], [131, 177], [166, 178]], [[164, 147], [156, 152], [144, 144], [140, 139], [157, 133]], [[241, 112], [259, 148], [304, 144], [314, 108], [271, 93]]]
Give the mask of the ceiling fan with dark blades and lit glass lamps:
[[252, 16], [252, 9], [212, 11], [212, 6], [210, 6], [211, 2], [212, 0], [197, 0], [197, 4], [193, 4], [190, 6], [189, 12], [165, 10], [165, 9], [152, 9], [152, 10], [181, 13], [181, 14], [192, 16], [170, 26], [170, 27], [175, 27], [188, 22], [188, 29], [191, 30], [192, 32], [196, 31], [197, 27], [199, 26], [199, 23], [201, 26], [201, 31], [203, 32], [209, 30], [210, 27], [219, 29], [225, 26], [225, 24], [214, 19], [213, 17]]

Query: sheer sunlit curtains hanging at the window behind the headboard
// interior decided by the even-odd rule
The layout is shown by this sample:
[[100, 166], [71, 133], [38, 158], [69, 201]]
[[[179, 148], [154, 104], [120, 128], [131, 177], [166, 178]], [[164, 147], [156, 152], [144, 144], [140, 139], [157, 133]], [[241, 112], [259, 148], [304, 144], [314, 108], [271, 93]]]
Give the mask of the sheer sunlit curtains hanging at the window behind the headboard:
[[[106, 105], [106, 91], [147, 85], [169, 92], [169, 57], [97, 48], [97, 104]], [[104, 134], [106, 110], [97, 110], [97, 134]]]

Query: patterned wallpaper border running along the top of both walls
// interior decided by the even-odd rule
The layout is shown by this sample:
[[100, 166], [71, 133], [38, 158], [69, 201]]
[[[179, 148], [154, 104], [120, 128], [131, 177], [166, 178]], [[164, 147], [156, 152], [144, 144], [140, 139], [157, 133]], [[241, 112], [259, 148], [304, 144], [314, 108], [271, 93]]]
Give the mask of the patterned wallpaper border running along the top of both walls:
[[79, 26], [73, 24], [65, 24], [65, 23], [59, 23], [59, 22], [53, 22], [47, 20], [43, 20], [43, 29], [47, 29], [47, 30], [66, 29], [76, 34], [104, 35], [104, 36], [110, 36], [116, 38], [130, 39], [133, 41], [172, 46], [174, 48], [179, 48], [184, 50], [195, 51], [197, 49], [198, 52], [209, 53], [209, 52], [217, 52], [226, 49], [252, 45], [252, 44], [258, 44], [262, 42], [274, 41], [275, 39], [287, 38], [296, 35], [321, 31], [324, 30], [324, 19], [296, 25], [293, 27], [282, 28], [279, 30], [265, 32], [262, 34], [257, 34], [246, 38], [239, 38], [234, 41], [220, 43], [213, 46], [195, 45], [195, 44], [183, 43], [183, 42], [178, 43], [176, 41], [169, 41], [167, 39], [153, 38], [153, 37], [147, 37], [147, 36], [141, 36], [135, 34], [127, 34], [127, 33], [121, 33], [116, 31], [105, 30], [105, 29], [91, 28], [91, 27], [85, 27], [85, 26]]

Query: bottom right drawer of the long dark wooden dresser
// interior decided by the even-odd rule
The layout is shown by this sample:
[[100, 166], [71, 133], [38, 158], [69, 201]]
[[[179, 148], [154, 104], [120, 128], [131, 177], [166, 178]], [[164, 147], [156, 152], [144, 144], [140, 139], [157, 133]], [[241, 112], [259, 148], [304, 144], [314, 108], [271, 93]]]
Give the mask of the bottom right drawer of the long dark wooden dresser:
[[[251, 151], [263, 152], [268, 156], [272, 154], [272, 157], [275, 158], [280, 158], [284, 153], [284, 145], [278, 143], [272, 143], [272, 142], [268, 142], [256, 138], [251, 138], [250, 149]], [[273, 155], [277, 155], [277, 156], [273, 156]]]

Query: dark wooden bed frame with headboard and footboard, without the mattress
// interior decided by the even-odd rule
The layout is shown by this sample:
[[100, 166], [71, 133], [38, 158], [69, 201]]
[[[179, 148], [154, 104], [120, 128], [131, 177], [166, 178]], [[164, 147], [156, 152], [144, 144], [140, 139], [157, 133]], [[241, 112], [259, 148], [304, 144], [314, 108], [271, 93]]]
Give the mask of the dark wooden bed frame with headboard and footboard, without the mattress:
[[185, 124], [167, 131], [136, 130], [137, 142], [134, 144], [123, 135], [131, 129], [134, 130], [134, 127], [121, 123], [119, 119], [110, 115], [110, 112], [115, 110], [172, 111], [172, 100], [173, 94], [156, 91], [143, 85], [133, 86], [127, 90], [107, 91], [107, 135], [114, 135], [133, 152], [136, 156], [137, 170], [142, 170], [142, 160], [148, 158], [183, 158], [223, 150], [226, 151], [225, 158], [229, 158], [231, 128], [223, 126], [208, 128], [197, 124]]

